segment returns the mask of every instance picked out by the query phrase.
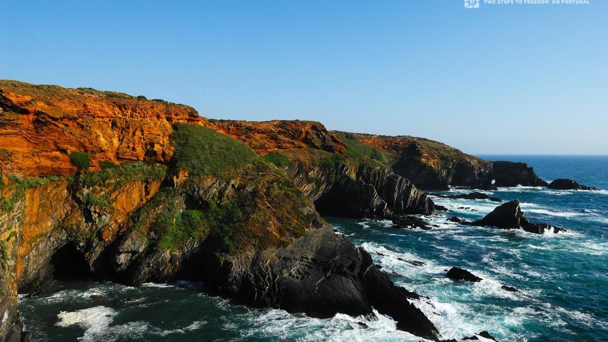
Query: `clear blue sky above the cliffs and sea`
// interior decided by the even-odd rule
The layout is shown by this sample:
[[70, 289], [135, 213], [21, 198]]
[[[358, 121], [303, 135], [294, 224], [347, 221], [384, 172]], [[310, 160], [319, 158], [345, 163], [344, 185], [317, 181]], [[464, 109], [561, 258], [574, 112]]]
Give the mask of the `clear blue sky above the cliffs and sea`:
[[0, 1], [0, 78], [468, 153], [608, 154], [608, 1]]

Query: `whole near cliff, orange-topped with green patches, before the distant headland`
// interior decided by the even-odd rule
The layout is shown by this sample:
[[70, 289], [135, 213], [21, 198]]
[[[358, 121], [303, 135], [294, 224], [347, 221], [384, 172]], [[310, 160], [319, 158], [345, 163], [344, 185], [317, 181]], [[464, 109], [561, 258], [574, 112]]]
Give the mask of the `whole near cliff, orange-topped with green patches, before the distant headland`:
[[[432, 201], [339, 134], [314, 122], [208, 120], [94, 89], [0, 89], [4, 340], [21, 338], [17, 293], [64, 277], [193, 279], [243, 304], [315, 317], [374, 308], [399, 329], [438, 338], [408, 301], [417, 295], [316, 210], [431, 214]], [[355, 190], [342, 200], [356, 214], [324, 204], [347, 184]]]

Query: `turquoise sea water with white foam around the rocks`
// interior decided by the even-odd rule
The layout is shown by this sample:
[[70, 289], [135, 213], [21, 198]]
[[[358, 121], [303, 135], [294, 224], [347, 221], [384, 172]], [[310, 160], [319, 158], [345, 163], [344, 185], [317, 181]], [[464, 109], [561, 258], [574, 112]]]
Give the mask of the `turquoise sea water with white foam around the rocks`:
[[[445, 218], [481, 218], [499, 203], [435, 198], [454, 212], [427, 217], [429, 231], [393, 229], [390, 222], [326, 218], [337, 234], [371, 253], [399, 285], [427, 296], [414, 302], [443, 338], [488, 330], [500, 341], [608, 340], [608, 156], [482, 156], [523, 161], [545, 180], [573, 178], [597, 192], [540, 187], [488, 191], [518, 198], [531, 222], [567, 234], [458, 226]], [[452, 189], [443, 194], [468, 193]], [[458, 207], [469, 209], [458, 209]], [[408, 261], [420, 261], [421, 266]], [[482, 277], [453, 282], [450, 267]], [[502, 285], [520, 290], [511, 293]], [[91, 295], [106, 296], [94, 301]], [[134, 302], [125, 302], [134, 298]], [[314, 319], [283, 310], [250, 309], [200, 293], [199, 284], [53, 282], [40, 296], [20, 297], [26, 329], [36, 341], [334, 340], [418, 341], [392, 319], [336, 315]], [[365, 321], [369, 328], [359, 326]]]

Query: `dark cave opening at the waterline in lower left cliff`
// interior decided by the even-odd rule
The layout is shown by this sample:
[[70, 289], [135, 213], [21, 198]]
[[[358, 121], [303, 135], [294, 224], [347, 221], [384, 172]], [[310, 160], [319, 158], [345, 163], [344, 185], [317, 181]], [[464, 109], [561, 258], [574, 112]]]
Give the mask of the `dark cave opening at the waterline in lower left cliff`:
[[50, 258], [53, 278], [65, 281], [85, 281], [96, 279], [85, 256], [73, 243], [61, 246]]

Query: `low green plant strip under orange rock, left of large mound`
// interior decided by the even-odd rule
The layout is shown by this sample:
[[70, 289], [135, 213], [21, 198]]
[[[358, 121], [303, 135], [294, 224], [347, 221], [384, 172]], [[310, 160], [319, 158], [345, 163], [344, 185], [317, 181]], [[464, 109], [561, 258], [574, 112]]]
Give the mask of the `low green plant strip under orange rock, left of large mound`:
[[162, 180], [165, 173], [166, 169], [161, 164], [143, 161], [114, 164], [106, 161], [103, 162], [101, 170], [87, 173], [80, 179], [86, 186], [113, 185], [117, 188], [130, 181]]

